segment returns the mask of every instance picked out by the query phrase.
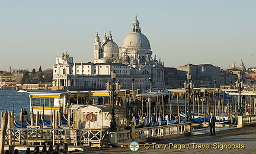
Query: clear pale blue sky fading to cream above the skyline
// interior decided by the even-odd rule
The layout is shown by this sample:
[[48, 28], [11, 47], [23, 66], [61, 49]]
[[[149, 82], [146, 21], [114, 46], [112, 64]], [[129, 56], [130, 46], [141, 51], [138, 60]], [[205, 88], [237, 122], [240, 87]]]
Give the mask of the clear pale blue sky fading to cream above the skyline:
[[165, 67], [256, 66], [255, 0], [0, 0], [0, 70], [52, 69], [65, 51], [74, 62], [93, 62], [96, 34], [102, 41], [111, 31], [121, 47], [135, 15]]

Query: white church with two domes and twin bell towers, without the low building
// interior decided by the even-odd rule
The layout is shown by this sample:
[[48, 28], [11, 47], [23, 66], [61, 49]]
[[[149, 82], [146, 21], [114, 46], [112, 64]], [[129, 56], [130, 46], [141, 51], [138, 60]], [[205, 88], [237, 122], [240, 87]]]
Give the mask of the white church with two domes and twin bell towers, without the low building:
[[[119, 52], [111, 32], [105, 35], [101, 45], [98, 34], [94, 41], [94, 63], [122, 63], [130, 67], [130, 75], [144, 76], [146, 87], [152, 78], [152, 86], [164, 88], [164, 63], [153, 58], [148, 38], [142, 34], [137, 17], [132, 23], [131, 33], [126, 36]], [[118, 74], [117, 74], [118, 75]]]

